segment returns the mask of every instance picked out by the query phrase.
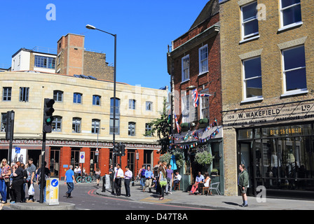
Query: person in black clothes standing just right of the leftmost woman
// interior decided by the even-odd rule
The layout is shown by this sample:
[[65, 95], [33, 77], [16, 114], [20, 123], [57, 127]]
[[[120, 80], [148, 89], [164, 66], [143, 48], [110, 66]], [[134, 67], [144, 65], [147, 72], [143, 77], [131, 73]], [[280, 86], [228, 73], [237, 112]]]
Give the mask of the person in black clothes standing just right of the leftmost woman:
[[12, 186], [14, 188], [14, 202], [11, 202], [11, 204], [21, 203], [23, 190], [23, 169], [20, 167], [20, 162], [16, 162], [15, 166], [13, 167], [12, 179]]

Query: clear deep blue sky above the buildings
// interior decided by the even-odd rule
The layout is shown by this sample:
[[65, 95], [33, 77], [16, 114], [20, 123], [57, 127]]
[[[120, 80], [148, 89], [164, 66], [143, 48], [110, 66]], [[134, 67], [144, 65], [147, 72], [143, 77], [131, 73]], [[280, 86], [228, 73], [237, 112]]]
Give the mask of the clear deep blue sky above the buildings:
[[[0, 0], [0, 67], [11, 66], [20, 48], [57, 48], [68, 33], [85, 36], [85, 48], [114, 62], [117, 34], [117, 81], [159, 88], [169, 85], [167, 45], [189, 30], [208, 0]], [[56, 20], [46, 20], [48, 3]]]

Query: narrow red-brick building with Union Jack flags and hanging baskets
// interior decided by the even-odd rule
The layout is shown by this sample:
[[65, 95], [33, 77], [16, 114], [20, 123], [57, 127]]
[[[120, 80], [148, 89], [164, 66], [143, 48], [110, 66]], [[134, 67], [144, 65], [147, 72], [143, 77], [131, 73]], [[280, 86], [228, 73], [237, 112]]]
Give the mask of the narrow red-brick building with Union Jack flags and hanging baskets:
[[[219, 28], [219, 3], [208, 1], [189, 31], [172, 41], [168, 73], [172, 85], [173, 147], [186, 158], [186, 167], [181, 171], [184, 185], [189, 186], [198, 171], [204, 174], [215, 168], [219, 170], [217, 181], [223, 192]], [[198, 94], [210, 94], [199, 97], [198, 106], [194, 106], [192, 97], [195, 90]], [[181, 126], [179, 133], [175, 116]], [[203, 150], [214, 155], [210, 168], [194, 161], [196, 153]]]

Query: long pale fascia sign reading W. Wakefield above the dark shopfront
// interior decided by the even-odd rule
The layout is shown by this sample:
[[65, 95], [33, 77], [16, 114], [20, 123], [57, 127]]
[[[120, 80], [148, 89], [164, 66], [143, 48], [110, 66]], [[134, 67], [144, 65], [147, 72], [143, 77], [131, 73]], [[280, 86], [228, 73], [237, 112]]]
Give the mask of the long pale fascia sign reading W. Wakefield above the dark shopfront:
[[245, 127], [306, 120], [314, 120], [314, 103], [303, 102], [228, 111], [223, 114], [222, 122], [225, 127]]

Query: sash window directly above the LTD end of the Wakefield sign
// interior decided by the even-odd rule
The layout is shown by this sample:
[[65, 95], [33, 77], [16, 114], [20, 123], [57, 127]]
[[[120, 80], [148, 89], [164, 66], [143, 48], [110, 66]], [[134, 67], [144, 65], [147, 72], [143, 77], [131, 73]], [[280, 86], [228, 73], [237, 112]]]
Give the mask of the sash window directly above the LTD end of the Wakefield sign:
[[307, 92], [304, 45], [282, 50], [284, 93]]

